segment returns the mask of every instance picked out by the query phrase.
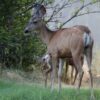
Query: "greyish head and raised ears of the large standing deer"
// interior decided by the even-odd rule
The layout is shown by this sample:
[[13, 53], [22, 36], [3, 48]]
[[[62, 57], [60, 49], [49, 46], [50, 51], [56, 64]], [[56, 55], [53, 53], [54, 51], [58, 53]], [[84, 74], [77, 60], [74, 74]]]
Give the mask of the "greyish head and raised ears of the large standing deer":
[[29, 33], [32, 30], [37, 30], [39, 27], [41, 27], [41, 21], [46, 13], [46, 9], [41, 4], [34, 4], [33, 5], [33, 12], [32, 16], [25, 28], [25, 33]]

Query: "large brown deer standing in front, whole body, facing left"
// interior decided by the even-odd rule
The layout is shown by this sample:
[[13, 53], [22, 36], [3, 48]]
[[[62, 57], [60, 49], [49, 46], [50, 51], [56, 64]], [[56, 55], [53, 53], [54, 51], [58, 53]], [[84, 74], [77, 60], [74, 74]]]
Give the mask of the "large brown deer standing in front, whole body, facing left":
[[[72, 58], [79, 74], [78, 90], [80, 90], [83, 77], [81, 58], [86, 56], [91, 86], [91, 97], [93, 97], [93, 78], [91, 71], [93, 40], [91, 34], [84, 33], [76, 27], [62, 28], [57, 31], [50, 30], [43, 19], [46, 14], [46, 8], [42, 4], [34, 5], [34, 12], [25, 28], [25, 33], [34, 30], [39, 31], [39, 36], [47, 45], [47, 53], [51, 55], [51, 91], [54, 90], [55, 73], [57, 62], [58, 69], [58, 90], [61, 90], [61, 75], [64, 64], [64, 58]], [[91, 45], [92, 44], [92, 45]], [[84, 49], [85, 48], [85, 49]]]

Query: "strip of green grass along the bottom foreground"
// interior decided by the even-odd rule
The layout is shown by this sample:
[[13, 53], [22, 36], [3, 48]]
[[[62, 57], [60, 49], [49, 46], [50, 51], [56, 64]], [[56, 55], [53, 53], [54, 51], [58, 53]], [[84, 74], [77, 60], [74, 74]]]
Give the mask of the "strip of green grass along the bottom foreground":
[[[38, 85], [28, 85], [0, 80], [0, 100], [89, 100], [90, 91], [76, 89], [62, 89], [61, 94], [56, 90], [52, 93], [49, 88]], [[100, 90], [95, 90], [95, 100], [100, 100]]]

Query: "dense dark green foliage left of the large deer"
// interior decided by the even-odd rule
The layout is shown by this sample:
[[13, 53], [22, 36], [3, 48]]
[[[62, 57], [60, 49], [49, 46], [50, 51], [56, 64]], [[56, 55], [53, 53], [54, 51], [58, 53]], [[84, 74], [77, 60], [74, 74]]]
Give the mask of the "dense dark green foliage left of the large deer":
[[22, 13], [34, 0], [0, 0], [0, 62], [6, 67], [25, 68], [45, 51], [37, 36], [24, 35], [30, 17]]

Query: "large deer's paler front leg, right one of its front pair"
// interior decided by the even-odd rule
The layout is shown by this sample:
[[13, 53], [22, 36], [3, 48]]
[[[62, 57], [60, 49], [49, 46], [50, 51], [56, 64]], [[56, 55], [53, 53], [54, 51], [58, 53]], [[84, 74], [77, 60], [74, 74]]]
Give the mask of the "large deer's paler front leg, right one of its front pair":
[[63, 59], [59, 59], [59, 69], [58, 69], [58, 91], [61, 90], [61, 77], [62, 77], [62, 69], [63, 69], [64, 61]]

